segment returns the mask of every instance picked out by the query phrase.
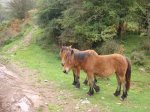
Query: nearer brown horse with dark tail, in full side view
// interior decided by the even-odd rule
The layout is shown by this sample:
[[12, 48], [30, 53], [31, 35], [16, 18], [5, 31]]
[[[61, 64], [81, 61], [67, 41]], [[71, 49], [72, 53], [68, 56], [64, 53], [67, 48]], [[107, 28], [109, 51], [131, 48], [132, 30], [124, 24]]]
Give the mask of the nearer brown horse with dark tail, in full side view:
[[82, 54], [71, 50], [66, 55], [64, 63], [64, 71], [67, 73], [75, 66], [79, 66], [84, 72], [87, 73], [90, 89], [89, 95], [99, 91], [99, 86], [94, 82], [94, 74], [100, 77], [107, 77], [113, 73], [116, 73], [118, 86], [114, 93], [115, 96], [120, 95], [121, 85], [123, 85], [123, 94], [121, 99], [124, 100], [127, 97], [127, 92], [130, 88], [131, 78], [131, 65], [129, 60], [120, 54], [111, 55], [89, 55], [88, 53]]

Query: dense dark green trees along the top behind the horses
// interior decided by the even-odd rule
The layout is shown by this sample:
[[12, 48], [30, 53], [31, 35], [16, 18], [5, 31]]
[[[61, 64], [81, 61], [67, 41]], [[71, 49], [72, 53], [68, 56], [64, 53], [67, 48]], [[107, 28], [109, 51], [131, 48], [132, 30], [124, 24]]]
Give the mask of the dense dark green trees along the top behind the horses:
[[44, 0], [39, 6], [38, 24], [47, 37], [80, 49], [101, 47], [123, 33], [148, 33], [148, 0]]

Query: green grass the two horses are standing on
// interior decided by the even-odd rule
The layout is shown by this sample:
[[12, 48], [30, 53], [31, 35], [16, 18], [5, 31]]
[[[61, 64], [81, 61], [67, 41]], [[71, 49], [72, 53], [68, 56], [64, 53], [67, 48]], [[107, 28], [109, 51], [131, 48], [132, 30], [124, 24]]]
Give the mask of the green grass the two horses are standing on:
[[[134, 38], [133, 38], [134, 37]], [[138, 39], [137, 39], [138, 38]], [[125, 52], [128, 56], [132, 49], [139, 45], [140, 37], [136, 35], [129, 35], [124, 39]], [[19, 42], [19, 40], [5, 46], [1, 52], [9, 49], [11, 46]], [[50, 46], [51, 47], [51, 46]], [[110, 80], [99, 79], [97, 85], [100, 86], [101, 91], [95, 93], [94, 96], [87, 96], [88, 86], [81, 84], [80, 89], [75, 89], [71, 85], [73, 81], [72, 73], [65, 75], [62, 72], [58, 52], [53, 52], [43, 49], [41, 46], [33, 42], [26, 48], [19, 48], [13, 54], [5, 54], [7, 58], [13, 61], [19, 61], [22, 66], [29, 67], [39, 72], [40, 80], [50, 80], [57, 84], [57, 87], [62, 90], [69, 90], [73, 94], [74, 99], [88, 98], [91, 103], [96, 104], [110, 112], [149, 112], [150, 111], [150, 75], [146, 72], [139, 71], [138, 66], [132, 66], [131, 89], [128, 93], [128, 98], [125, 101], [120, 101], [119, 97], [114, 97], [113, 93], [116, 90], [116, 77], [112, 75]], [[85, 73], [81, 73], [80, 82], [85, 78]], [[58, 108], [58, 107], [57, 107]]]

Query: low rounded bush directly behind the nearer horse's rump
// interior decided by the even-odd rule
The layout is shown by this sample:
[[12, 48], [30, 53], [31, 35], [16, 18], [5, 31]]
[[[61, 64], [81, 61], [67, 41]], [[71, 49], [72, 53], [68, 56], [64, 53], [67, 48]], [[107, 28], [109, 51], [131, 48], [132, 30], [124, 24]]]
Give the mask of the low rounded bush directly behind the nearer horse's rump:
[[97, 47], [96, 51], [100, 54], [113, 54], [120, 53], [122, 54], [124, 48], [115, 40], [106, 41], [102, 44], [101, 47]]

